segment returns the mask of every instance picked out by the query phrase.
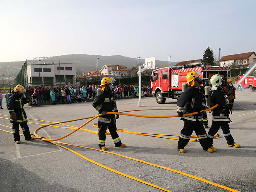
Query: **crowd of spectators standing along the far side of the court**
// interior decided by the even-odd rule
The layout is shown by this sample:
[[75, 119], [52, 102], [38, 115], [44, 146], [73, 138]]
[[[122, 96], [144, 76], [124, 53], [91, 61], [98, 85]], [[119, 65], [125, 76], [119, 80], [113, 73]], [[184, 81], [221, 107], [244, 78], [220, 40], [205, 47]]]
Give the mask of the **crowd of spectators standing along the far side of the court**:
[[[97, 94], [97, 89], [99, 85], [36, 85], [29, 86], [28, 91], [31, 99], [32, 106], [37, 106], [39, 102], [52, 101], [52, 105], [56, 104], [57, 100], [61, 100], [62, 104], [68, 103], [81, 103], [86, 102], [85, 99], [94, 99]], [[10, 92], [10, 91], [8, 91]], [[8, 92], [5, 96], [2, 95], [0, 89], [0, 108], [2, 109], [2, 100], [5, 97], [6, 105], [8, 100]], [[116, 99], [121, 99], [122, 97], [132, 97], [138, 96], [139, 86], [137, 84], [126, 85], [121, 84], [115, 85], [113, 94]], [[144, 97], [149, 97], [152, 95], [152, 88], [150, 85], [141, 86], [141, 95]]]

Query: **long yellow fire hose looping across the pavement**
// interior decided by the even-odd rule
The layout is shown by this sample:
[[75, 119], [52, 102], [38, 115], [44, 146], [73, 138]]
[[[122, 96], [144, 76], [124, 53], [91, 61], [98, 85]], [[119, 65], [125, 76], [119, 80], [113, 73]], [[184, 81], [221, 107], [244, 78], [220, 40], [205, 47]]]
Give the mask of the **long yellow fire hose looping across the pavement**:
[[[212, 110], [213, 108], [215, 108], [215, 107], [217, 107], [217, 106], [218, 106], [218, 105], [215, 105], [214, 107], [209, 108], [209, 109], [206, 109], [206, 110], [204, 110], [204, 111]], [[143, 110], [170, 110], [170, 109], [143, 109]], [[172, 110], [176, 110], [176, 109], [172, 109]], [[140, 110], [131, 110], [131, 111], [140, 111]], [[202, 111], [203, 111], [203, 110], [202, 110]], [[202, 112], [202, 111], [200, 111], [200, 112]], [[124, 112], [130, 112], [130, 111], [124, 111]], [[127, 116], [146, 117], [146, 118], [169, 118], [169, 117], [177, 117], [177, 116], [178, 116], [178, 115], [172, 115], [172, 116], [141, 116], [141, 115], [125, 114], [124, 112], [120, 112], [120, 113], [108, 112], [107, 114], [119, 114], [119, 115], [127, 115]], [[197, 112], [195, 112], [195, 113], [190, 113], [190, 114], [184, 114], [184, 116], [194, 115], [194, 114], [197, 114]], [[74, 151], [74, 150], [72, 150], [72, 149], [70, 149], [70, 148], [64, 147], [64, 146], [62, 146], [62, 145], [60, 145], [60, 144], [71, 145], [71, 146], [77, 146], [77, 147], [82, 147], [82, 148], [88, 148], [88, 147], [79, 146], [79, 145], [72, 145], [72, 144], [68, 144], [68, 143], [63, 143], [63, 142], [57, 141], [57, 140], [63, 139], [63, 138], [65, 138], [65, 137], [71, 135], [72, 133], [76, 132], [77, 130], [89, 131], [89, 132], [92, 132], [92, 133], [94, 133], [94, 134], [97, 134], [98, 132], [96, 132], [96, 131], [90, 131], [90, 130], [81, 129], [81, 128], [82, 128], [84, 125], [90, 123], [92, 120], [94, 120], [95, 118], [97, 118], [97, 117], [99, 117], [99, 116], [101, 116], [101, 114], [98, 115], [98, 116], [95, 116], [95, 117], [87, 117], [87, 118], [82, 118], [82, 119], [71, 120], [71, 121], [77, 121], [77, 120], [83, 120], [83, 119], [91, 118], [89, 121], [87, 121], [86, 123], [84, 123], [83, 125], [81, 125], [81, 126], [78, 127], [78, 128], [76, 128], [76, 127], [74, 127], [74, 126], [70, 126], [70, 125], [63, 124], [63, 123], [71, 122], [71, 121], [65, 121], [65, 122], [50, 122], [50, 121], [44, 121], [44, 122], [49, 122], [49, 123], [52, 123], [52, 124], [46, 124], [46, 125], [40, 124], [40, 125], [43, 125], [43, 126], [37, 128], [37, 129], [35, 130], [35, 132], [34, 132], [33, 135], [35, 135], [36, 138], [38, 138], [38, 139], [41, 139], [41, 140], [44, 140], [44, 141], [49, 141], [49, 142], [51, 142], [51, 143], [53, 143], [53, 144], [55, 144], [55, 145], [58, 145], [58, 146], [60, 146], [60, 147], [62, 147], [62, 148], [65, 148], [65, 149], [67, 149], [67, 150], [69, 150], [69, 151], [75, 153], [76, 155], [78, 155], [78, 156], [80, 156], [80, 157], [82, 157], [82, 158], [84, 158], [84, 159], [86, 159], [86, 160], [88, 160], [88, 161], [90, 161], [90, 162], [92, 162], [92, 163], [94, 163], [94, 164], [96, 164], [96, 165], [99, 165], [99, 166], [101, 166], [101, 167], [103, 167], [103, 168], [105, 168], [105, 169], [108, 169], [108, 170], [110, 170], [110, 171], [112, 171], [112, 172], [115, 172], [115, 173], [117, 173], [117, 174], [120, 174], [120, 175], [123, 175], [123, 176], [125, 176], [125, 177], [131, 178], [131, 179], [133, 179], [133, 180], [137, 180], [137, 181], [139, 181], [139, 182], [142, 182], [142, 183], [147, 184], [147, 185], [149, 185], [149, 186], [152, 186], [152, 187], [161, 189], [161, 190], [163, 190], [163, 191], [169, 191], [169, 192], [171, 192], [170, 190], [161, 188], [161, 187], [156, 186], [156, 185], [154, 185], [154, 184], [152, 184], [152, 183], [148, 183], [148, 182], [146, 182], [146, 181], [143, 181], [143, 180], [140, 180], [140, 179], [138, 179], [138, 178], [132, 177], [132, 176], [127, 175], [127, 174], [125, 174], [125, 173], [118, 172], [118, 171], [116, 171], [116, 170], [114, 170], [114, 169], [111, 169], [111, 168], [105, 166], [105, 165], [99, 164], [99, 163], [97, 163], [97, 162], [95, 162], [95, 161], [93, 161], [93, 160], [91, 160], [91, 159], [89, 159], [89, 158], [87, 158], [87, 157], [85, 157], [85, 156], [83, 156], [83, 155], [77, 153], [76, 151]], [[3, 117], [0, 117], [0, 118], [3, 118]], [[4, 119], [7, 119], [7, 118], [4, 118]], [[33, 120], [35, 120], [35, 119], [33, 119]], [[37, 121], [42, 121], [42, 120], [37, 120]], [[28, 123], [31, 123], [31, 122], [28, 122]], [[38, 123], [33, 123], [33, 124], [38, 124]], [[62, 125], [68, 126], [68, 127], [54, 126], [54, 124], [62, 124]], [[2, 124], [0, 124], [0, 125], [2, 125]], [[95, 127], [97, 127], [97, 124], [93, 124], [93, 125], [94, 125]], [[5, 125], [2, 125], [2, 126], [5, 126]], [[39, 135], [36, 134], [36, 131], [37, 131], [37, 130], [39, 130], [39, 129], [42, 128], [42, 127], [46, 127], [46, 126], [53, 126], [53, 127], [60, 127], [60, 128], [68, 128], [68, 129], [75, 129], [75, 130], [72, 131], [71, 133], [69, 133], [69, 134], [67, 134], [67, 135], [65, 135], [65, 136], [63, 136], [63, 137], [61, 137], [61, 138], [59, 138], [59, 139], [52, 140], [52, 139], [50, 139], [50, 138], [40, 137]], [[5, 126], [5, 127], [9, 127], [9, 126]], [[12, 127], [9, 127], [9, 128], [12, 128]], [[2, 129], [0, 129], [0, 130], [1, 130], [1, 131], [4, 131], [4, 132], [9, 132], [9, 131], [5, 131], [5, 130], [2, 130]], [[126, 131], [126, 130], [123, 130], [123, 129], [117, 129], [117, 130], [118, 130], [118, 131], [127, 132], [127, 133], [132, 133], [132, 134], [139, 134], [139, 135], [146, 135], [146, 136], [153, 136], [153, 137], [160, 137], [160, 136], [155, 136], [155, 135], [179, 136], [179, 135], [165, 135], [165, 134], [154, 134], [154, 133], [138, 133], [138, 132]], [[22, 130], [20, 130], [20, 131], [22, 131]], [[12, 133], [12, 132], [9, 132], [9, 133]], [[22, 135], [22, 134], [20, 134], [20, 135]], [[219, 136], [219, 135], [215, 135], [214, 137], [218, 137], [218, 136]], [[195, 138], [196, 138], [196, 136], [191, 136], [191, 137], [195, 137]], [[177, 138], [168, 138], [168, 137], [161, 137], [161, 138], [177, 139]], [[53, 142], [53, 141], [56, 141], [57, 143], [60, 143], [60, 144], [57, 144], [56, 142]], [[192, 140], [192, 141], [194, 141], [194, 140]], [[113, 153], [113, 152], [103, 151], [103, 150], [100, 150], [100, 149], [95, 149], [95, 148], [88, 148], [88, 149], [98, 150], [98, 151], [102, 151], [102, 152], [105, 152], [105, 153], [110, 153], [110, 154], [113, 154], [113, 155], [121, 156], [121, 157], [124, 157], [124, 158], [127, 158], [127, 159], [131, 159], [131, 160], [135, 160], [135, 161], [138, 161], [138, 162], [141, 162], [141, 163], [145, 163], [145, 164], [148, 164], [148, 165], [156, 166], [156, 167], [159, 167], [159, 168], [168, 170], [168, 171], [180, 173], [180, 174], [182, 174], [182, 175], [185, 175], [185, 176], [194, 178], [194, 179], [196, 179], [196, 180], [203, 181], [203, 182], [205, 182], [205, 183], [208, 183], [208, 184], [211, 184], [211, 185], [214, 185], [214, 186], [223, 188], [223, 189], [227, 189], [227, 190], [232, 191], [232, 192], [239, 192], [239, 191], [237, 191], [237, 190], [235, 190], [235, 189], [228, 188], [228, 187], [226, 187], [226, 186], [222, 186], [222, 185], [219, 185], [219, 184], [217, 184], [217, 183], [213, 183], [213, 182], [211, 182], [211, 181], [204, 180], [204, 179], [202, 179], [202, 178], [199, 178], [199, 177], [196, 177], [196, 176], [193, 176], [193, 175], [184, 173], [184, 172], [180, 172], [180, 171], [177, 171], [177, 170], [173, 170], [173, 169], [170, 169], [170, 168], [161, 166], [161, 165], [151, 164], [151, 163], [146, 162], [146, 161], [142, 161], [142, 160], [135, 159], [135, 158], [128, 157], [128, 156], [123, 156], [123, 155], [116, 154], [116, 153]]]

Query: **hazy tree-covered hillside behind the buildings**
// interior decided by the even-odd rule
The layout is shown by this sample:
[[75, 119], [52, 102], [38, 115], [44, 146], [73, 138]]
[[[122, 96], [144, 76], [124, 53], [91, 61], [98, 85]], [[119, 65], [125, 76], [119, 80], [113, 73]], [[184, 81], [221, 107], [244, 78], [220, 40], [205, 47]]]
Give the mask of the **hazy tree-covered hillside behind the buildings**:
[[[70, 55], [60, 55], [53, 57], [40, 57], [34, 58], [34, 60], [28, 60], [27, 63], [38, 63], [38, 59], [40, 59], [40, 64], [43, 63], [52, 63], [59, 62], [60, 63], [76, 63], [76, 69], [81, 70], [84, 73], [87, 73], [90, 70], [96, 70], [96, 58], [98, 59], [98, 70], [100, 70], [104, 65], [127, 65], [129, 69], [136, 66], [137, 68], [137, 58], [124, 57], [121, 55], [113, 55], [113, 56], [101, 56], [101, 55], [85, 55], [85, 54], [70, 54]], [[16, 76], [22, 65], [24, 65], [24, 61], [14, 61], [14, 62], [0, 62], [1, 73], [5, 76]], [[170, 62], [170, 66], [175, 65], [178, 62]], [[139, 59], [139, 65], [144, 64], [144, 59]], [[156, 67], [167, 67], [168, 61], [160, 61], [156, 60]], [[5, 70], [3, 70], [3, 68]], [[12, 74], [10, 74], [10, 69], [12, 69]], [[16, 74], [16, 75], [15, 75]]]

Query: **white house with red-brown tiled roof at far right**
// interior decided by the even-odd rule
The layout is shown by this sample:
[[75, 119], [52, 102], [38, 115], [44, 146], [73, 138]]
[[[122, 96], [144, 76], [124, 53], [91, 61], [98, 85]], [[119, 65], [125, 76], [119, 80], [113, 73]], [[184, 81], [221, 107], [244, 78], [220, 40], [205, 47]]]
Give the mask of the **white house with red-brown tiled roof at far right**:
[[249, 66], [256, 62], [255, 52], [239, 53], [234, 55], [225, 55], [220, 59], [220, 65], [245, 65]]

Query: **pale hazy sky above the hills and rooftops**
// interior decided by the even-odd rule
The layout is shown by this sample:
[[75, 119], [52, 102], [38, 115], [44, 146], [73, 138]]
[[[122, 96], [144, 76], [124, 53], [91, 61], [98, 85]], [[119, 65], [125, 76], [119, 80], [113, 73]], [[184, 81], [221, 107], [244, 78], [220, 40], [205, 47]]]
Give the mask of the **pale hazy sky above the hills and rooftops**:
[[0, 0], [0, 62], [66, 54], [201, 59], [256, 52], [255, 0]]

